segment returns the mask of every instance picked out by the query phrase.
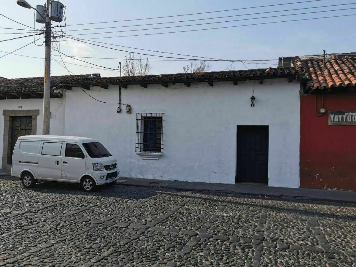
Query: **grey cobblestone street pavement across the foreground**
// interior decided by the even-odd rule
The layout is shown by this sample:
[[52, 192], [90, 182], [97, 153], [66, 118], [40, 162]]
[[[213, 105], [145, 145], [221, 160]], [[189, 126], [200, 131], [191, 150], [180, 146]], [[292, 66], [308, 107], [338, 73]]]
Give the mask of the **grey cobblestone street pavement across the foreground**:
[[356, 204], [0, 176], [0, 266], [356, 266]]

